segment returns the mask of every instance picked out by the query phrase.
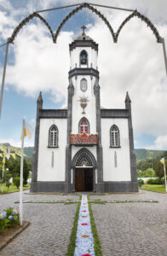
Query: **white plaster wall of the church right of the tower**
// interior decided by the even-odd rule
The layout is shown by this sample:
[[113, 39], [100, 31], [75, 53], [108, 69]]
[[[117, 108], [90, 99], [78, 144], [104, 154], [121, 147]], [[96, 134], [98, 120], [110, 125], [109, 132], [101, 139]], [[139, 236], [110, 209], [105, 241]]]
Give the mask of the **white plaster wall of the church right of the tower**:
[[[117, 125], [121, 148], [110, 148], [110, 127]], [[103, 147], [104, 181], [130, 181], [130, 143], [128, 119], [101, 119], [101, 143]], [[117, 153], [117, 167], [114, 165]]]

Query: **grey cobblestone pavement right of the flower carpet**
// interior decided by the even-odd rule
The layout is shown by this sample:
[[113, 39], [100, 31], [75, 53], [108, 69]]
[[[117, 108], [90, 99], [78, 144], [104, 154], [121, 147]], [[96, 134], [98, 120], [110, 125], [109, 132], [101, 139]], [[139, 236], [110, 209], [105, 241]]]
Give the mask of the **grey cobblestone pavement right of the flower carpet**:
[[103, 256], [167, 255], [167, 194], [91, 195], [90, 199], [153, 199], [158, 203], [92, 204]]

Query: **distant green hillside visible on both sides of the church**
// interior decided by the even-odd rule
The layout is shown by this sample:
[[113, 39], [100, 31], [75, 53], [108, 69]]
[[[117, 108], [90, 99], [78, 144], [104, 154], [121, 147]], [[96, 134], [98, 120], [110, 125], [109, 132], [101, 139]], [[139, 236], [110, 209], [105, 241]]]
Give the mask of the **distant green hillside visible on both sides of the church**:
[[[9, 143], [3, 143], [5, 146], [11, 146]], [[13, 146], [11, 146], [14, 148]], [[20, 149], [20, 148], [16, 148]], [[24, 153], [28, 157], [32, 157], [33, 154], [33, 147], [26, 147], [24, 148]], [[149, 149], [144, 149], [144, 148], [137, 148], [135, 149], [135, 155], [136, 155], [136, 160], [145, 160], [145, 159], [153, 159], [157, 156], [161, 156], [164, 154], [164, 150], [149, 150]]]

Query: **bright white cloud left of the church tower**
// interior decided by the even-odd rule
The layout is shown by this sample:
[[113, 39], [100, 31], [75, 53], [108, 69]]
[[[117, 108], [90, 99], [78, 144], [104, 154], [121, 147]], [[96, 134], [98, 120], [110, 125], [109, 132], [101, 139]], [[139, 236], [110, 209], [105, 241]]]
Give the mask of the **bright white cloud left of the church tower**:
[[55, 102], [65, 101], [71, 41], [72, 32], [61, 32], [59, 43], [53, 44], [45, 26], [25, 27], [14, 43], [14, 65], [7, 68], [7, 83], [27, 96], [42, 90], [50, 92]]

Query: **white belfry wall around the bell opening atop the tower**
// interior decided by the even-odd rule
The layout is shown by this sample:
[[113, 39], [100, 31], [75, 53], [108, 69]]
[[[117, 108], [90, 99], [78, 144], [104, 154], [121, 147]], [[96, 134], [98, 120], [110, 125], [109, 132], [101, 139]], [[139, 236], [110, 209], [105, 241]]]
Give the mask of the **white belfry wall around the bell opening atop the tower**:
[[[88, 67], [92, 67], [96, 69], [97, 67], [97, 51], [95, 49], [92, 49], [91, 47], [77, 47], [75, 49], [72, 49], [71, 51], [71, 68], [80, 67], [79, 64], [79, 57], [82, 50], [85, 50], [88, 53]], [[87, 67], [87, 65], [82, 65], [82, 67]]]

